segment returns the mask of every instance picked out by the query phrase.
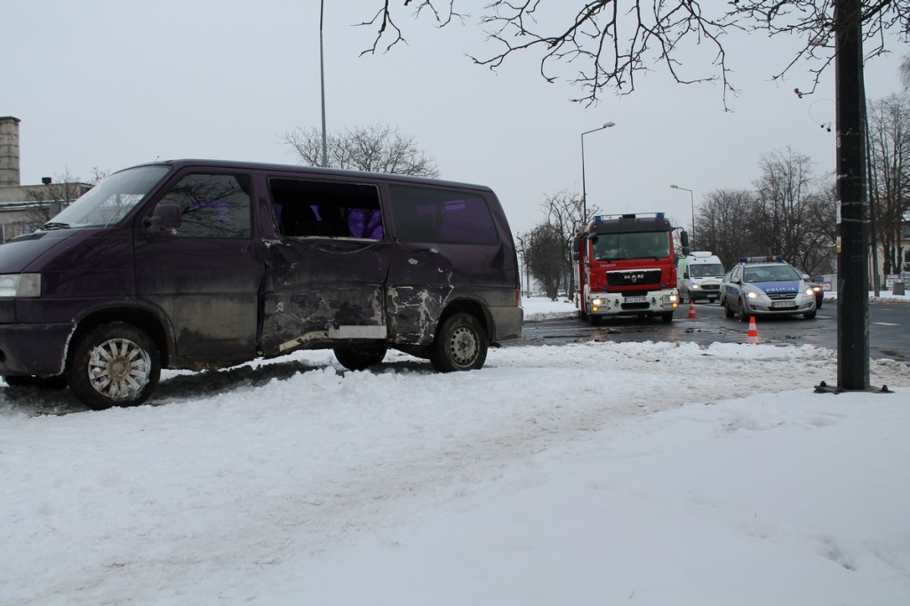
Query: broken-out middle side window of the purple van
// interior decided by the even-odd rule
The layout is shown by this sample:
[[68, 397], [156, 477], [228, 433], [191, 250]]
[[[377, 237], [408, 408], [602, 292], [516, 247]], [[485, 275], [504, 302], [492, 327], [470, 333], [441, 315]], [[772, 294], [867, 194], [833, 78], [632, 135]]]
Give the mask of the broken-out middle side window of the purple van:
[[382, 239], [374, 185], [272, 177], [268, 191], [282, 236]]

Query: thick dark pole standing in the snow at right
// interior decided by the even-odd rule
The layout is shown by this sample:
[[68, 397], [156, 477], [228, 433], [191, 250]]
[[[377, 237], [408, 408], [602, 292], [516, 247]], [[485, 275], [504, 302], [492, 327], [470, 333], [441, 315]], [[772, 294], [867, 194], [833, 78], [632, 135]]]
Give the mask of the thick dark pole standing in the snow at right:
[[869, 387], [868, 208], [864, 199], [863, 24], [860, 0], [834, 0], [837, 198], [837, 388]]

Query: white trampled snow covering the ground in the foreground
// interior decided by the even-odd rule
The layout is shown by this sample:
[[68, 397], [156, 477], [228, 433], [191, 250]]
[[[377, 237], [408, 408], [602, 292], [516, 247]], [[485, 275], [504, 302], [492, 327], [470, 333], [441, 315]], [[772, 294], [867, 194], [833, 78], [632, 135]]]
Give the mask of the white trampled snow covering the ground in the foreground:
[[[571, 314], [526, 300], [530, 318]], [[0, 387], [0, 603], [910, 603], [910, 369], [835, 352], [328, 351], [86, 411]]]

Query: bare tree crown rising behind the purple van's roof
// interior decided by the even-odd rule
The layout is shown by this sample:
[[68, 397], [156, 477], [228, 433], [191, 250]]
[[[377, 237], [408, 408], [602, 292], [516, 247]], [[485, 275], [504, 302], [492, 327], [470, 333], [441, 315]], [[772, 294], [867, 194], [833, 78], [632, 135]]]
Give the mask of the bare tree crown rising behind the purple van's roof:
[[[298, 126], [285, 133], [281, 143], [291, 146], [298, 161], [311, 167], [322, 165], [322, 133]], [[439, 177], [433, 158], [417, 146], [413, 136], [390, 126], [358, 126], [326, 137], [329, 167], [393, 173], [415, 177]]]

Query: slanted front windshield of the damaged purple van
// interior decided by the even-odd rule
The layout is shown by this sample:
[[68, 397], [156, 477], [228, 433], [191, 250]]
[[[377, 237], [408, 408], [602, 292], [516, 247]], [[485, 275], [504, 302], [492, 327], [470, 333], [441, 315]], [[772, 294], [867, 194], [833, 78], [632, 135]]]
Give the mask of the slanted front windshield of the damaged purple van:
[[118, 224], [167, 175], [170, 167], [121, 170], [89, 189], [41, 229], [110, 227]]

